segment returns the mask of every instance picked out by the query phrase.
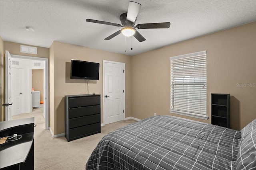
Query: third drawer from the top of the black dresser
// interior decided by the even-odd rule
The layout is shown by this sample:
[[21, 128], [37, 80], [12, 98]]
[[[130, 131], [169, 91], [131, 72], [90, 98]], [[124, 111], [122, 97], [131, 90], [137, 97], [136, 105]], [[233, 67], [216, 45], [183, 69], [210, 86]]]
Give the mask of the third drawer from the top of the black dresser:
[[84, 117], [77, 117], [73, 119], [69, 119], [69, 129], [74, 127], [80, 127], [84, 125], [90, 125], [93, 123], [100, 122], [100, 113], [96, 115], [84, 116]]

